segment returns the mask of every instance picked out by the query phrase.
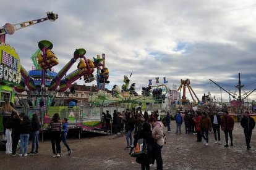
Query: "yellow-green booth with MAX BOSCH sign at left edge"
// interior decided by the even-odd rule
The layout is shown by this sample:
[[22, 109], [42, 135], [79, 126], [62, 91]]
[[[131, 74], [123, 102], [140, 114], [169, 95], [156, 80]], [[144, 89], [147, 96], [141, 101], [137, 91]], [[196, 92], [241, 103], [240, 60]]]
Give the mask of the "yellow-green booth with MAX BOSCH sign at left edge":
[[[21, 81], [20, 59], [15, 49], [0, 42], [0, 108], [5, 99], [14, 103], [14, 86]], [[0, 134], [3, 132], [2, 109], [0, 110]]]

